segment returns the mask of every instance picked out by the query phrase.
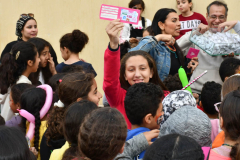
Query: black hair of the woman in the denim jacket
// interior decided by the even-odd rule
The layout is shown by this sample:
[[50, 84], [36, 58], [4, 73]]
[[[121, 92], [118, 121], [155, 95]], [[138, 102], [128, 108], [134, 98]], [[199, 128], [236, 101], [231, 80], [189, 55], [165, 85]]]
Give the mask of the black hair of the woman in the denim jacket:
[[[171, 9], [171, 8], [162, 8], [162, 9], [159, 9], [155, 13], [153, 22], [152, 22], [152, 30], [153, 30], [154, 35], [162, 34], [162, 30], [158, 26], [158, 22], [165, 23], [168, 14], [170, 14], [172, 12], [177, 13], [174, 9]], [[181, 66], [185, 66], [183, 53], [182, 53], [181, 48], [178, 46], [177, 42], [174, 44], [174, 47], [176, 48], [176, 53], [179, 57]]]

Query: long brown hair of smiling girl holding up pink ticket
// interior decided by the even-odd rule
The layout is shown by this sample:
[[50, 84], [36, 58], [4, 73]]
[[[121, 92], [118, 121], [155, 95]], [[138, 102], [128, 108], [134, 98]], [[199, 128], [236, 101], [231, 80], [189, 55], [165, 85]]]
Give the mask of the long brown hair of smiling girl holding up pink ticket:
[[158, 72], [157, 72], [157, 67], [156, 67], [155, 61], [153, 60], [151, 55], [148, 54], [147, 52], [141, 51], [141, 50], [129, 52], [121, 60], [120, 83], [121, 83], [121, 87], [123, 89], [127, 90], [131, 86], [128, 83], [128, 81], [125, 80], [125, 76], [124, 75], [125, 75], [125, 70], [126, 70], [126, 62], [132, 56], [142, 56], [142, 57], [144, 57], [147, 60], [147, 62], [148, 62], [150, 70], [152, 70], [152, 72], [153, 72], [153, 77], [150, 78], [149, 82], [154, 83], [156, 85], [159, 85], [162, 88], [162, 90], [168, 90], [164, 86], [164, 84], [162, 83], [161, 79], [158, 76]]

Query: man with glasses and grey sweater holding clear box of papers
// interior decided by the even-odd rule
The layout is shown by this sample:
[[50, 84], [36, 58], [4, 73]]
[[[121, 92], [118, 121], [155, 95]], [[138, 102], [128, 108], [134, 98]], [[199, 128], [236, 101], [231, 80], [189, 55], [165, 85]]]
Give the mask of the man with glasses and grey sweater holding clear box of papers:
[[[207, 7], [206, 19], [208, 25], [200, 24], [198, 29], [201, 33], [205, 33], [209, 28], [219, 29], [221, 27], [228, 26], [230, 28], [234, 28], [234, 30], [240, 34], [240, 23], [237, 21], [234, 22], [226, 22], [228, 15], [228, 7], [222, 1], [214, 1]], [[225, 22], [225, 23], [224, 23]], [[222, 24], [222, 25], [221, 25]], [[215, 81], [216, 83], [222, 84], [222, 80], [219, 76], [219, 67], [224, 57], [222, 56], [211, 56], [201, 50], [198, 46], [194, 45], [189, 37], [191, 32], [187, 32], [184, 36], [177, 40], [179, 47], [182, 49], [184, 53], [187, 53], [190, 47], [199, 49], [200, 52], [198, 54], [199, 65], [196, 67], [194, 64], [192, 67], [196, 67], [193, 71], [191, 80], [199, 76], [205, 70], [208, 70], [207, 74], [197, 80], [195, 83], [191, 85], [192, 91], [194, 93], [201, 93], [203, 84], [207, 81]]]

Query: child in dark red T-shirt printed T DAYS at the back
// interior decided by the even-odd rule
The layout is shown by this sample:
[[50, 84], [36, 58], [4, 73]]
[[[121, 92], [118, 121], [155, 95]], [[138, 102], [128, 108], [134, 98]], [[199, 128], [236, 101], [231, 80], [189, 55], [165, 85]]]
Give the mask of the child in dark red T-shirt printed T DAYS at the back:
[[186, 32], [196, 29], [200, 23], [208, 25], [203, 15], [192, 11], [192, 0], [177, 0], [177, 8], [181, 12], [179, 21], [181, 22], [180, 35], [175, 39], [181, 38]]

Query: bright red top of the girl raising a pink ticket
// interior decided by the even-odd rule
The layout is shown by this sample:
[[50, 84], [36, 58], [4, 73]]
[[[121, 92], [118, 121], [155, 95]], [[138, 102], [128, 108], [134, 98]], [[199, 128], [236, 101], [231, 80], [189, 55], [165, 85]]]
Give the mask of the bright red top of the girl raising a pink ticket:
[[[124, 116], [128, 129], [131, 129], [131, 123], [127, 118], [124, 107], [124, 99], [127, 91], [121, 88], [120, 84], [120, 49], [110, 50], [107, 48], [104, 54], [104, 80], [103, 90], [105, 92], [108, 103], [111, 107], [118, 109]], [[164, 91], [164, 96], [168, 95], [168, 91]]]

